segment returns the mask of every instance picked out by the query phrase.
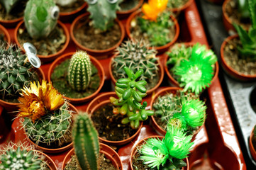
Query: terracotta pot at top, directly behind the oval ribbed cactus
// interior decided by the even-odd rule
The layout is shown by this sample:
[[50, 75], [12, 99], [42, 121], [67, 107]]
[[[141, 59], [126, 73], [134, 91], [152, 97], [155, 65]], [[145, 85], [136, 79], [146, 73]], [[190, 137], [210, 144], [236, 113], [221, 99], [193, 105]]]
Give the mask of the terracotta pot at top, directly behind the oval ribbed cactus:
[[116, 50], [116, 47], [118, 47], [121, 42], [123, 41], [123, 38], [125, 36], [125, 30], [123, 28], [123, 25], [121, 23], [121, 21], [118, 21], [116, 19], [116, 23], [118, 23], [118, 26], [121, 30], [121, 38], [120, 40], [116, 43], [116, 45], [114, 45], [111, 48], [108, 48], [106, 50], [93, 50], [93, 49], [89, 49], [88, 47], [84, 47], [83, 45], [81, 45], [77, 39], [74, 37], [74, 30], [81, 27], [82, 23], [84, 23], [84, 19], [89, 18], [89, 13], [84, 13], [81, 16], [78, 16], [71, 24], [70, 27], [70, 35], [72, 40], [74, 41], [75, 45], [77, 45], [77, 47], [81, 50], [87, 51], [89, 55], [92, 55], [96, 58], [106, 58], [109, 57], [108, 55], [112, 55], [112, 53], [114, 52], [114, 50]]

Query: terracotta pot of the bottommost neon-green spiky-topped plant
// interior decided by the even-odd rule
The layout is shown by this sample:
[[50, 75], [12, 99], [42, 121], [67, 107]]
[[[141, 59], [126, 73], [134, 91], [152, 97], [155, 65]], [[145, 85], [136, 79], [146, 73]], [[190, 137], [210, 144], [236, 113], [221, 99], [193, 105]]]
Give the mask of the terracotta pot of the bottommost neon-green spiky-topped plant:
[[[130, 161], [129, 161], [129, 167], [130, 170], [135, 170], [133, 169], [133, 157], [135, 156], [135, 154], [137, 153], [137, 149], [140, 145], [143, 145], [145, 143], [145, 140], [148, 140], [150, 138], [158, 138], [160, 140], [162, 140], [164, 137], [162, 136], [150, 136], [150, 137], [146, 137], [143, 140], [140, 140], [140, 142], [138, 142], [137, 145], [135, 145], [135, 147], [133, 147], [132, 152], [130, 153]], [[189, 159], [183, 159], [184, 162], [186, 162], [187, 166], [182, 167], [182, 170], [189, 170]]]

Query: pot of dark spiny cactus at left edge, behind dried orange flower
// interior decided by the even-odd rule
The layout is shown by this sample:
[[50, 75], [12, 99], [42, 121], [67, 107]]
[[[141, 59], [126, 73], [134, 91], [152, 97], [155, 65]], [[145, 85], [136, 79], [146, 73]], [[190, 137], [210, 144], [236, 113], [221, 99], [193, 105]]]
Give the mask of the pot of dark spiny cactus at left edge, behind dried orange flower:
[[[35, 69], [35, 70], [38, 73], [38, 76], [40, 77], [40, 81], [42, 81], [43, 79], [45, 80], [45, 74], [43, 73], [43, 70], [40, 68]], [[3, 101], [1, 99], [0, 99], [0, 106], [3, 106], [6, 109], [6, 111], [8, 111], [8, 112], [18, 110], [18, 103], [10, 103], [7, 101]], [[15, 115], [13, 115], [13, 116], [15, 116]]]

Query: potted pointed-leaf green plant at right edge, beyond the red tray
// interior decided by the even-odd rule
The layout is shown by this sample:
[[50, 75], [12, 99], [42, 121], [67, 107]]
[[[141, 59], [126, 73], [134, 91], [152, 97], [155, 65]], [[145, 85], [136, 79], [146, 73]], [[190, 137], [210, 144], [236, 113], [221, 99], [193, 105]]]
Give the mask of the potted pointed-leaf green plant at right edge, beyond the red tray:
[[221, 64], [233, 78], [241, 81], [256, 79], [256, 1], [248, 0], [252, 26], [247, 32], [242, 26], [233, 23], [238, 35], [229, 36], [221, 45]]

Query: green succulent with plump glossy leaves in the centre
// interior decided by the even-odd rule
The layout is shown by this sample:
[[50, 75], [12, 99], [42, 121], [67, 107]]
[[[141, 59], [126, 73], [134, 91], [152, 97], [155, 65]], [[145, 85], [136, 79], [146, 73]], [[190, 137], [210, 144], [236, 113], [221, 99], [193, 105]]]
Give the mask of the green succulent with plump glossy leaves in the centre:
[[128, 78], [118, 79], [115, 86], [118, 98], [110, 97], [109, 99], [116, 106], [113, 109], [114, 114], [121, 113], [121, 115], [126, 115], [122, 123], [130, 123], [131, 128], [137, 129], [140, 125], [140, 120], [147, 120], [148, 116], [154, 114], [154, 111], [145, 110], [148, 105], [146, 101], [141, 105], [142, 98], [147, 95], [147, 89], [145, 88], [147, 81], [136, 81], [136, 79], [143, 74], [143, 69], [139, 69], [135, 74], [128, 67], [123, 67], [123, 69]]

